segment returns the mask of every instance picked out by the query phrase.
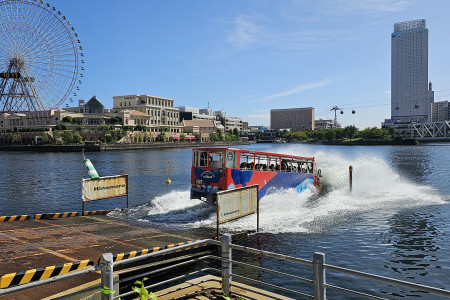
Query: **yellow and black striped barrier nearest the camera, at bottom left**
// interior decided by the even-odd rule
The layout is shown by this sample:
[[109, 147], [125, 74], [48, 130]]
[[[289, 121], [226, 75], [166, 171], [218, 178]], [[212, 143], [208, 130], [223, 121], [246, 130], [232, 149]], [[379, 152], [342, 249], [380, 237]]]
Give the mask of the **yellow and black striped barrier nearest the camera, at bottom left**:
[[78, 271], [86, 266], [92, 265], [94, 265], [92, 260], [87, 259], [78, 262], [66, 263], [64, 265], [49, 266], [45, 268], [28, 270], [25, 272], [10, 273], [0, 277], [0, 288], [4, 289], [18, 284], [48, 279], [50, 277], [63, 275], [72, 271]]

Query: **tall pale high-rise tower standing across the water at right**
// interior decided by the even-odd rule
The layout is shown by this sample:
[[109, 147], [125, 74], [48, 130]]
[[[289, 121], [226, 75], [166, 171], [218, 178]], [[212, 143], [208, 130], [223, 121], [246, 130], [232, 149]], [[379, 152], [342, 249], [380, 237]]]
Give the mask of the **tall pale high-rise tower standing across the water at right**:
[[425, 20], [395, 23], [391, 36], [391, 122], [430, 122], [433, 102]]

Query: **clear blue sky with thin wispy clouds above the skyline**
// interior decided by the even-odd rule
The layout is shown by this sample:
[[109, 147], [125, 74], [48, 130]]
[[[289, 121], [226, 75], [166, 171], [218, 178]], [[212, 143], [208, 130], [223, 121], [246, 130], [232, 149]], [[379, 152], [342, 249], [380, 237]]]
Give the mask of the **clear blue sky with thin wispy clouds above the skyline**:
[[[150, 94], [269, 125], [270, 109], [380, 126], [390, 117], [394, 23], [426, 19], [435, 101], [450, 98], [450, 1], [191, 0], [51, 3], [85, 54], [78, 98]], [[351, 114], [355, 109], [356, 114]]]

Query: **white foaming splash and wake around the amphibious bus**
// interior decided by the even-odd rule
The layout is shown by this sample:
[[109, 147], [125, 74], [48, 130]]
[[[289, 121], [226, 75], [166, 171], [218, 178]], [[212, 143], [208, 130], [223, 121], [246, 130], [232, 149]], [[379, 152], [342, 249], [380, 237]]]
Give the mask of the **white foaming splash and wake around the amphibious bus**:
[[[298, 152], [293, 147], [287, 154]], [[260, 200], [262, 232], [314, 232], [348, 222], [362, 214], [389, 216], [402, 209], [445, 203], [434, 188], [407, 181], [395, 166], [382, 158], [359, 156], [350, 161], [323, 152], [314, 156], [320, 162], [326, 193], [318, 197], [311, 187], [301, 194], [283, 190], [263, 197]], [[350, 164], [354, 167], [352, 192], [348, 183]], [[131, 208], [128, 217], [162, 224], [214, 228], [215, 209], [215, 206], [189, 199], [189, 191], [173, 191]], [[254, 230], [256, 215], [222, 224], [221, 228], [228, 231]]]

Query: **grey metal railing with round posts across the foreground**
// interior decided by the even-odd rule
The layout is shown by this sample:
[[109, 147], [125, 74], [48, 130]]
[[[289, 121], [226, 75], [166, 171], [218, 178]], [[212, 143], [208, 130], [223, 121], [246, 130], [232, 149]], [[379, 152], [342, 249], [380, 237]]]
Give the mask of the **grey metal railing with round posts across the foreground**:
[[[258, 286], [266, 286], [272, 290], [279, 290], [279, 291], [282, 291], [283, 293], [293, 294], [296, 296], [311, 298], [311, 299], [315, 299], [315, 300], [326, 299], [327, 289], [330, 289], [330, 290], [333, 289], [333, 290], [337, 290], [337, 291], [340, 291], [343, 293], [358, 295], [360, 297], [365, 297], [365, 298], [369, 298], [369, 299], [385, 299], [385, 298], [379, 297], [377, 295], [371, 295], [371, 294], [367, 294], [365, 292], [356, 291], [356, 290], [352, 290], [352, 289], [348, 289], [345, 287], [336, 286], [336, 285], [327, 283], [326, 272], [336, 272], [336, 273], [340, 273], [340, 274], [346, 274], [346, 275], [355, 276], [355, 277], [359, 277], [359, 278], [369, 279], [369, 280], [376, 281], [376, 282], [381, 282], [386, 285], [407, 287], [407, 288], [415, 289], [418, 291], [431, 293], [434, 295], [450, 297], [449, 290], [430, 287], [430, 286], [426, 286], [426, 285], [411, 283], [411, 282], [402, 281], [402, 280], [398, 280], [398, 279], [388, 278], [388, 277], [384, 277], [384, 276], [369, 274], [369, 273], [365, 273], [365, 272], [360, 272], [360, 271], [355, 271], [355, 270], [351, 270], [351, 269], [347, 269], [347, 268], [343, 268], [343, 267], [337, 267], [337, 266], [325, 264], [325, 254], [319, 253], [319, 252], [314, 253], [313, 260], [311, 261], [311, 260], [307, 260], [307, 259], [301, 259], [301, 258], [297, 258], [297, 257], [274, 253], [274, 252], [258, 250], [255, 248], [232, 244], [230, 235], [223, 235], [220, 241], [212, 240], [212, 239], [200, 240], [200, 241], [192, 242], [189, 244], [175, 246], [173, 248], [160, 250], [157, 252], [152, 252], [152, 253], [136, 256], [133, 258], [123, 259], [123, 260], [116, 261], [116, 262], [114, 262], [114, 257], [111, 253], [105, 253], [100, 258], [99, 266], [96, 266], [96, 267], [90, 266], [90, 267], [85, 268], [84, 270], [71, 272], [71, 273], [68, 273], [65, 275], [52, 277], [52, 278], [49, 278], [46, 280], [36, 281], [36, 282], [29, 283], [29, 284], [23, 284], [23, 285], [14, 286], [14, 287], [6, 288], [6, 289], [0, 289], [0, 295], [23, 290], [26, 288], [35, 287], [35, 286], [46, 284], [49, 282], [54, 282], [57, 280], [68, 278], [68, 277], [79, 276], [79, 275], [82, 275], [82, 274], [85, 274], [88, 272], [97, 271], [97, 270], [101, 271], [101, 287], [107, 287], [112, 290], [112, 289], [114, 289], [114, 284], [118, 284], [121, 282], [121, 281], [114, 281], [114, 279], [113, 279], [114, 268], [119, 265], [135, 263], [135, 262], [139, 262], [142, 260], [147, 260], [151, 257], [159, 257], [162, 255], [180, 252], [182, 250], [198, 248], [200, 246], [205, 246], [205, 245], [219, 246], [220, 250], [221, 250], [220, 257], [215, 256], [215, 255], [202, 255], [201, 257], [194, 257], [194, 258], [190, 257], [181, 262], [173, 263], [168, 266], [160, 267], [158, 269], [153, 269], [151, 271], [145, 271], [143, 274], [127, 277], [126, 281], [140, 279], [144, 276], [155, 275], [158, 273], [167, 272], [167, 271], [171, 271], [171, 270], [179, 271], [180, 267], [185, 267], [189, 264], [198, 263], [198, 262], [201, 262], [204, 260], [217, 260], [221, 263], [220, 269], [210, 268], [210, 267], [199, 268], [195, 271], [186, 272], [185, 274], [181, 274], [181, 275], [178, 275], [175, 277], [171, 277], [170, 279], [167, 279], [167, 280], [162, 280], [160, 282], [153, 283], [151, 285], [145, 286], [145, 288], [154, 290], [155, 288], [161, 287], [163, 285], [167, 286], [169, 284], [172, 284], [175, 281], [187, 280], [188, 278], [192, 278], [193, 276], [198, 276], [201, 273], [206, 273], [206, 274], [214, 273], [216, 275], [221, 274], [222, 279], [220, 282], [221, 282], [221, 287], [222, 287], [224, 296], [230, 296], [233, 278], [238, 278], [238, 279], [243, 279], [244, 281], [251, 282], [252, 284], [256, 284]], [[312, 278], [313, 279], [303, 278], [303, 277], [300, 277], [300, 276], [297, 276], [294, 274], [288, 274], [288, 273], [281, 272], [278, 270], [272, 270], [272, 269], [264, 268], [261, 266], [249, 264], [247, 262], [233, 260], [233, 256], [232, 256], [233, 250], [242, 251], [245, 253], [257, 254], [259, 256], [271, 257], [271, 258], [275, 258], [275, 259], [279, 259], [279, 260], [283, 260], [283, 261], [288, 261], [288, 262], [304, 265], [307, 267], [312, 267], [312, 269], [313, 269], [312, 270], [313, 271]], [[292, 280], [296, 280], [296, 281], [299, 281], [302, 283], [309, 284], [309, 285], [311, 285], [312, 294], [288, 289], [286, 287], [282, 287], [282, 286], [279, 286], [276, 284], [264, 282], [261, 280], [256, 280], [253, 278], [249, 278], [247, 276], [233, 273], [233, 268], [232, 268], [233, 265], [241, 265], [241, 266], [245, 267], [246, 270], [255, 269], [258, 271], [262, 271], [262, 272], [269, 272], [271, 274], [284, 276], [284, 277], [292, 279]], [[218, 281], [218, 280], [208, 279], [207, 281]], [[99, 289], [100, 289], [100, 287], [99, 287]], [[177, 290], [182, 290], [182, 289], [183, 289], [183, 287], [179, 287], [178, 289], [170, 289], [170, 291], [164, 293], [164, 295], [175, 292]], [[239, 286], [239, 290], [246, 290], [246, 289], [249, 291], [252, 291], [254, 293], [260, 293], [258, 291], [252, 290], [252, 288], [250, 288], [250, 287]], [[119, 297], [127, 297], [132, 294], [134, 294], [134, 292], [129, 291], [129, 292], [126, 292], [126, 293], [123, 293], [120, 295], [102, 294], [101, 297], [102, 297], [102, 299], [105, 299], [105, 300], [106, 299], [112, 300], [112, 299], [117, 299]], [[239, 294], [239, 292], [237, 292], [237, 291], [234, 291], [233, 294], [238, 295], [238, 296], [239, 295], [245, 296], [243, 294]], [[158, 294], [157, 296], [162, 296], [162, 295], [163, 294]]]

